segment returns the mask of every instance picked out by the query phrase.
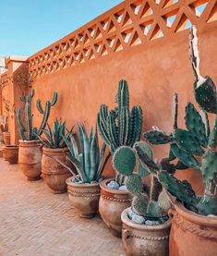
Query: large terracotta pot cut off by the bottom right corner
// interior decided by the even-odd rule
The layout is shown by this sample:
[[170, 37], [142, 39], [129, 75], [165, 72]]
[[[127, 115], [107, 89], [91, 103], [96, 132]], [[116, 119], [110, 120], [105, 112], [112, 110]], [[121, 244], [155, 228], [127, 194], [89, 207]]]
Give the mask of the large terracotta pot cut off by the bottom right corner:
[[188, 211], [181, 203], [170, 210], [171, 256], [212, 256], [217, 253], [217, 217]]

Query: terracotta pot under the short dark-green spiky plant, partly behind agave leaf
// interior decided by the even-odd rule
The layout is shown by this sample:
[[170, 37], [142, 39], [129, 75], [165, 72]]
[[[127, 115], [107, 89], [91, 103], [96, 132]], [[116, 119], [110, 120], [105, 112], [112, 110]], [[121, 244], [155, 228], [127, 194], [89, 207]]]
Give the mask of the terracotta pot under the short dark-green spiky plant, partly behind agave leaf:
[[54, 194], [66, 192], [66, 178], [71, 177], [71, 173], [49, 156], [55, 157], [67, 164], [66, 152], [68, 152], [67, 148], [42, 148], [42, 177], [46, 185], [54, 192]]

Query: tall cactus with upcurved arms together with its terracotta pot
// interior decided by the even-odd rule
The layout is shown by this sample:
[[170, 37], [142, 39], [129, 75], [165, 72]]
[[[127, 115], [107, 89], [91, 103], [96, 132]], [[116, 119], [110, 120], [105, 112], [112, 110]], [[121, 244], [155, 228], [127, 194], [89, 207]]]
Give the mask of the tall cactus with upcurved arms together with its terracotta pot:
[[47, 101], [44, 109], [42, 109], [41, 101], [37, 101], [37, 108], [43, 115], [42, 124], [40, 128], [32, 128], [31, 99], [33, 96], [33, 89], [30, 91], [30, 95], [20, 96], [20, 100], [25, 104], [25, 126], [21, 119], [21, 109], [18, 108], [17, 110], [18, 130], [21, 138], [19, 140], [18, 164], [28, 180], [41, 178], [42, 142], [38, 139], [38, 136], [42, 135], [42, 131], [46, 127], [50, 116], [51, 107], [57, 101], [56, 92], [54, 92], [52, 102]]

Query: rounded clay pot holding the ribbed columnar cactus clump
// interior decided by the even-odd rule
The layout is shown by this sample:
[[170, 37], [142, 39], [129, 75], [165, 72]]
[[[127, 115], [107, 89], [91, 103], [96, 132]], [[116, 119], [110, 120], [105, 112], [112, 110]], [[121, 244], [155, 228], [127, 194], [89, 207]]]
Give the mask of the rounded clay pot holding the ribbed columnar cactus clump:
[[103, 222], [111, 229], [115, 237], [121, 237], [121, 213], [131, 205], [132, 195], [127, 190], [110, 189], [107, 184], [113, 178], [107, 178], [100, 184], [101, 198], [99, 211]]

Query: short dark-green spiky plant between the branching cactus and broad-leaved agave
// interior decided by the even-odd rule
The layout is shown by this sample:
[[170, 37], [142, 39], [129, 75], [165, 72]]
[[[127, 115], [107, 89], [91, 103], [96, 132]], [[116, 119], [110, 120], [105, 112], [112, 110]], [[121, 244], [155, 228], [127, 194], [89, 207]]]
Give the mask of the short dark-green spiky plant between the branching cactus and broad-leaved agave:
[[38, 139], [42, 141], [42, 144], [46, 148], [50, 149], [61, 149], [66, 147], [66, 142], [63, 139], [63, 136], [68, 137], [69, 133], [66, 133], [66, 121], [62, 122], [60, 120], [55, 119], [53, 129], [50, 128], [49, 124], [47, 124], [47, 128], [44, 128], [43, 133], [45, 138], [42, 138], [37, 135]]

